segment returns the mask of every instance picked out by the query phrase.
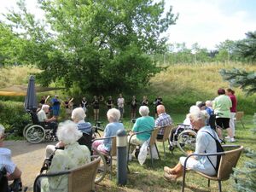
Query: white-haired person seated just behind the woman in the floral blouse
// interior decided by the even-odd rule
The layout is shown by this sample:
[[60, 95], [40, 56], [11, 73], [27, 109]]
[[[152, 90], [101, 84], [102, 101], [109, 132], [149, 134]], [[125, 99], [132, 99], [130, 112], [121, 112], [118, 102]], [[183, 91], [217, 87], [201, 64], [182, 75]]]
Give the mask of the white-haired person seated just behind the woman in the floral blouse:
[[90, 123], [84, 121], [85, 117], [86, 114], [84, 113], [83, 108], [73, 109], [71, 119], [78, 125], [79, 131], [83, 133], [83, 136], [79, 138], [78, 143], [80, 145], [86, 145], [89, 150], [91, 150], [92, 129]]

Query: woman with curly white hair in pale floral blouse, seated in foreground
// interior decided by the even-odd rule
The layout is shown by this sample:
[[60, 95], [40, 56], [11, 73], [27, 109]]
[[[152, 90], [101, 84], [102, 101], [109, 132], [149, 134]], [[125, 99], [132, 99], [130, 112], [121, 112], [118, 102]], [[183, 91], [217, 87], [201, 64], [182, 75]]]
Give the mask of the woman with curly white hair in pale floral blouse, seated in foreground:
[[[77, 142], [82, 137], [82, 132], [78, 130], [75, 123], [66, 121], [59, 125], [57, 137], [64, 150], [55, 150], [47, 173], [67, 171], [90, 162], [89, 149]], [[38, 188], [41, 188], [42, 192], [65, 192], [68, 190], [67, 179], [67, 176], [44, 177], [38, 183]]]

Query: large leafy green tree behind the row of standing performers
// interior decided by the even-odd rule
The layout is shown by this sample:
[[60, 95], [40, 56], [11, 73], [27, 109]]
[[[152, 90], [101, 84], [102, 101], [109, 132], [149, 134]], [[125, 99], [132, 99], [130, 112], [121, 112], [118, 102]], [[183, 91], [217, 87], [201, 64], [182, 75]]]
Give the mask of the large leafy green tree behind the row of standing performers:
[[20, 13], [7, 19], [26, 40], [22, 61], [36, 64], [44, 85], [61, 81], [82, 91], [136, 90], [160, 71], [148, 54], [163, 53], [160, 34], [177, 15], [165, 1], [43, 0], [45, 22], [35, 20], [20, 1]]

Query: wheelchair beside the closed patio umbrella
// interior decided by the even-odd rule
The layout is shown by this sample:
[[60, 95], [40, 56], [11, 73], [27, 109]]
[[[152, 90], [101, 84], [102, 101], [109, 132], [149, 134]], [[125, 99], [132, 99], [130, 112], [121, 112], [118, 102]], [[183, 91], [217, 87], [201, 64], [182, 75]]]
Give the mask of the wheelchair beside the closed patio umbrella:
[[32, 118], [32, 123], [26, 125], [23, 129], [23, 136], [29, 143], [41, 143], [43, 141], [54, 141], [53, 129], [51, 123], [38, 121], [38, 115], [34, 111], [29, 112]]

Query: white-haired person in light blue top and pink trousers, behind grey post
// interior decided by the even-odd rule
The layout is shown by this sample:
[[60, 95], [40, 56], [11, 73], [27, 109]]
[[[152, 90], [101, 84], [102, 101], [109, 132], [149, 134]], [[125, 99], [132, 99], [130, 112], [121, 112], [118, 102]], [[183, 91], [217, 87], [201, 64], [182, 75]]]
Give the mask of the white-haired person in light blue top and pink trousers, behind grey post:
[[[104, 136], [103, 137], [113, 137], [116, 136], [117, 131], [124, 130], [124, 125], [122, 123], [119, 123], [120, 119], [120, 112], [116, 108], [111, 108], [108, 110], [107, 117], [108, 117], [108, 125], [106, 126], [104, 130]], [[109, 153], [111, 150], [112, 145], [112, 139], [102, 139], [102, 140], [96, 140], [94, 143], [92, 143], [92, 148], [96, 148], [99, 151], [102, 151], [103, 153]]]

